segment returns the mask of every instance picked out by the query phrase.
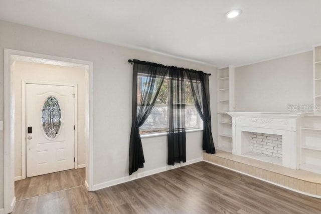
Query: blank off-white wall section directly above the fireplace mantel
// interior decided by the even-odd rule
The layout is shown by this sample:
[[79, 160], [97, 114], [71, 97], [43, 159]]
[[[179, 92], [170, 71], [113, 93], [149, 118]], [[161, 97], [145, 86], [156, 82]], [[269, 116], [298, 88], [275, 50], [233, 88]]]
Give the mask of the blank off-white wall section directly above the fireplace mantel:
[[236, 111], [294, 112], [292, 105], [313, 104], [312, 52], [235, 69]]

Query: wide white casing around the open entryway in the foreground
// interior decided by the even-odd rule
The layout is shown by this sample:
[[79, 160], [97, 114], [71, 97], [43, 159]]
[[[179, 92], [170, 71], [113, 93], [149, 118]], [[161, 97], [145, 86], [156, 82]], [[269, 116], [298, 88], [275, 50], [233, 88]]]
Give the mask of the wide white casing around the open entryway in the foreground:
[[12, 49], [4, 50], [4, 208], [12, 212], [15, 203], [15, 91], [12, 74], [16, 61], [84, 68], [85, 70], [85, 145], [88, 191], [93, 190], [93, 62]]

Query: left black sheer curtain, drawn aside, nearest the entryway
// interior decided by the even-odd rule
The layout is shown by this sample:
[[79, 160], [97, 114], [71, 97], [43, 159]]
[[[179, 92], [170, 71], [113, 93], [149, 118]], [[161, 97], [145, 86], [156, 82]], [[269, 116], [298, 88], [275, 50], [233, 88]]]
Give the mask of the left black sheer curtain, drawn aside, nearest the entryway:
[[[137, 76], [144, 76], [137, 84]], [[163, 85], [168, 69], [154, 65], [134, 63], [132, 82], [132, 123], [129, 141], [129, 175], [144, 166], [139, 127], [145, 122], [155, 105], [159, 90]]]

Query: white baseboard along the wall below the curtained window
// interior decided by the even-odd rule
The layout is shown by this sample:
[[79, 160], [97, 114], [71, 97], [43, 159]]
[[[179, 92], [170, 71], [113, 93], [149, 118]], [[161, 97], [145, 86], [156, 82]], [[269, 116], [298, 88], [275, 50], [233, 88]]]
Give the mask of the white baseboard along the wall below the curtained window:
[[94, 184], [93, 189], [94, 189], [94, 191], [98, 190], [98, 189], [103, 189], [103, 188], [106, 188], [106, 187], [109, 187], [109, 186], [113, 186], [113, 185], [117, 185], [117, 184], [120, 184], [120, 183], [128, 182], [128, 181], [131, 181], [131, 180], [135, 180], [135, 179], [138, 179], [138, 178], [141, 178], [141, 177], [145, 177], [145, 176], [148, 176], [148, 175], [152, 175], [152, 174], [156, 174], [156, 173], [159, 173], [159, 172], [164, 172], [164, 171], [167, 171], [167, 170], [179, 168], [179, 167], [186, 166], [186, 165], [189, 165], [189, 164], [192, 164], [192, 163], [197, 163], [197, 162], [200, 162], [200, 161], [203, 161], [203, 157], [196, 158], [196, 159], [193, 159], [193, 160], [188, 160], [185, 163], [175, 164], [174, 166], [167, 165], [167, 166], [164, 166], [164, 167], [159, 167], [159, 168], [156, 168], [156, 169], [150, 169], [150, 170], [142, 171], [142, 172], [139, 172], [139, 169], [138, 169], [138, 173], [135, 173], [133, 175], [117, 178], [117, 179], [106, 181], [106, 182], [103, 182], [103, 183]]

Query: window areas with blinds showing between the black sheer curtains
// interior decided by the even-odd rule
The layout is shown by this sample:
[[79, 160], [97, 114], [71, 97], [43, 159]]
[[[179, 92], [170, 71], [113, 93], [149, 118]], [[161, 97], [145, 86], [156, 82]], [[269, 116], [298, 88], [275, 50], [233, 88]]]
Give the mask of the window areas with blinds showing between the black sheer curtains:
[[[140, 105], [141, 93], [143, 93], [146, 77], [143, 74], [138, 74], [137, 77], [137, 105]], [[167, 132], [168, 124], [168, 98], [169, 98], [169, 78], [167, 78], [161, 90], [159, 91], [156, 104], [153, 107], [150, 115], [147, 117], [144, 124], [139, 128], [140, 134]], [[194, 105], [194, 99], [188, 81], [185, 82], [185, 121], [186, 129], [199, 129], [202, 122]], [[175, 106], [174, 106], [175, 108]], [[174, 110], [175, 113], [175, 110]]]

